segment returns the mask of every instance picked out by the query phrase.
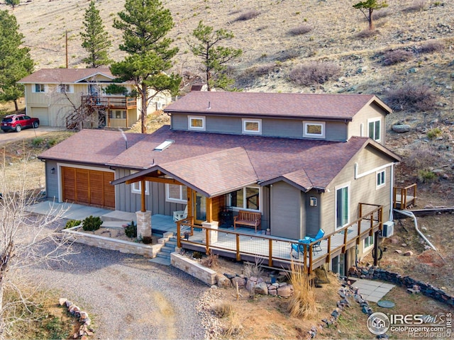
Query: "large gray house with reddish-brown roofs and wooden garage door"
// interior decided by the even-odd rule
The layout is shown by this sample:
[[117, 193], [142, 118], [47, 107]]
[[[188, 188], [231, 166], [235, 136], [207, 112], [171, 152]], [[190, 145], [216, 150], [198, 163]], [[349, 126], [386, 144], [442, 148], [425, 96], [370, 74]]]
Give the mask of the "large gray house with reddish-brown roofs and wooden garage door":
[[376, 96], [192, 91], [164, 111], [171, 125], [150, 135], [82, 130], [43, 152], [48, 198], [169, 216], [187, 205], [212, 225], [228, 206], [286, 239], [335, 232], [359, 203], [392, 220], [400, 158]]

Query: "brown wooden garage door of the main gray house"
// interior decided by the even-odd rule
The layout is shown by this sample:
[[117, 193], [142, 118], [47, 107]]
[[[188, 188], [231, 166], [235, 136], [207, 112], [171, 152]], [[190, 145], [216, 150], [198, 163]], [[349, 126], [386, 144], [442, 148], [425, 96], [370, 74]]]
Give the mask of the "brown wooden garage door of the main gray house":
[[115, 208], [114, 173], [62, 167], [63, 200]]

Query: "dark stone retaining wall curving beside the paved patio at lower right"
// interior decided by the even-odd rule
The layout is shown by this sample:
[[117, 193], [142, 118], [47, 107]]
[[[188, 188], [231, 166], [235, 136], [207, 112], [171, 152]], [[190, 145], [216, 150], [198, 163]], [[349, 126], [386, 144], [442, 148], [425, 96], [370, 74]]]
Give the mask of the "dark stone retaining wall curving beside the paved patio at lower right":
[[448, 293], [445, 293], [445, 291], [441, 290], [440, 288], [436, 288], [428, 283], [423, 283], [422, 281], [415, 280], [414, 278], [411, 278], [409, 276], [402, 276], [399, 273], [385, 271], [384, 269], [375, 266], [358, 268], [352, 267], [348, 270], [348, 273], [350, 276], [387, 281], [409, 289], [414, 289], [415, 287], [417, 287], [423, 295], [431, 297], [433, 300], [443, 302], [446, 305], [454, 306], [453, 296], [448, 295]]

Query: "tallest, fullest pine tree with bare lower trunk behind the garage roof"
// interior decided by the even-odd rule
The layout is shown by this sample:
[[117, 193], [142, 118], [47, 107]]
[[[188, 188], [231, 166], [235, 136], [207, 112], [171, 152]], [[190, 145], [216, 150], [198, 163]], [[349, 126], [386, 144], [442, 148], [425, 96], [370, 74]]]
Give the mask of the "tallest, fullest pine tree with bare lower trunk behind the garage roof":
[[175, 94], [181, 82], [181, 77], [166, 73], [178, 52], [177, 47], [170, 47], [172, 40], [166, 38], [174, 23], [170, 11], [158, 0], [126, 0], [125, 10], [118, 17], [114, 28], [123, 31], [120, 50], [128, 56], [112, 64], [111, 72], [118, 80], [135, 82], [141, 99], [142, 133], [145, 133], [150, 100], [162, 91]]

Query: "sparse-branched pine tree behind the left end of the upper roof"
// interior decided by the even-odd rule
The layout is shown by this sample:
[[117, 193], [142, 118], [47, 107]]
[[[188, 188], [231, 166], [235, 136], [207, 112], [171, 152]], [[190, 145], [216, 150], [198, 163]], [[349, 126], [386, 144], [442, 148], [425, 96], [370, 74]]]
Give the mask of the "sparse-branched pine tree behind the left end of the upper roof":
[[210, 26], [204, 26], [199, 21], [199, 26], [192, 32], [196, 42], [187, 40], [191, 52], [202, 60], [208, 91], [216, 87], [224, 90], [231, 89], [234, 80], [226, 74], [226, 64], [239, 57], [243, 51], [231, 47], [218, 46], [222, 40], [230, 40], [233, 33], [224, 29], [214, 30]]

